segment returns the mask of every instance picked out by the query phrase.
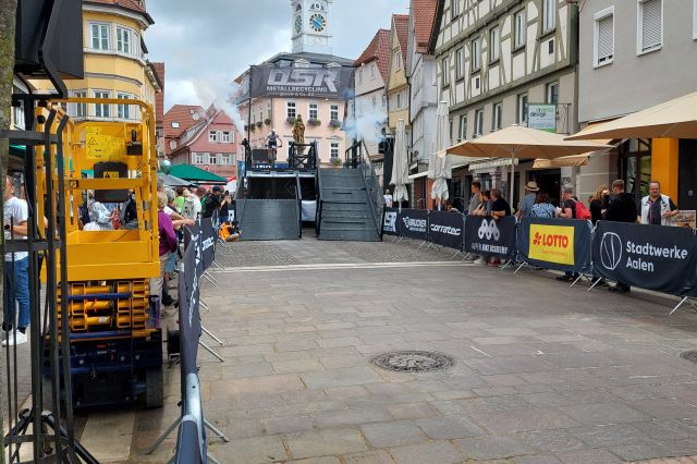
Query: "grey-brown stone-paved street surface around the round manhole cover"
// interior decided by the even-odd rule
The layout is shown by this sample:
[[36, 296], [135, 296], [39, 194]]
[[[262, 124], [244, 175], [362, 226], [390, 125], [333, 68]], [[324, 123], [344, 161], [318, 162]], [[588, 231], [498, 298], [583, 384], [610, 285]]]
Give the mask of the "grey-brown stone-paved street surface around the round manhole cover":
[[[222, 463], [695, 462], [697, 349], [688, 310], [584, 288], [546, 272], [449, 261], [414, 243], [240, 242], [204, 284], [199, 350], [208, 435]], [[168, 320], [175, 325], [174, 318]], [[426, 374], [370, 362], [393, 350], [448, 354]], [[100, 462], [166, 462], [180, 413], [94, 413]], [[98, 435], [98, 437], [97, 437]], [[107, 445], [107, 443], [110, 443]], [[121, 447], [121, 448], [119, 448]]]

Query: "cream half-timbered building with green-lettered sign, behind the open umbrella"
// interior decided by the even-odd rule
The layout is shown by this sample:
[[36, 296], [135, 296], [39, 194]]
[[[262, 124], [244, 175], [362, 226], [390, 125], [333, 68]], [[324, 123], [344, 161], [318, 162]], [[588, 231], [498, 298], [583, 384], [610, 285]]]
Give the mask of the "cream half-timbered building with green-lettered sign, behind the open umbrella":
[[[511, 124], [571, 134], [578, 129], [576, 64], [578, 7], [566, 0], [440, 0], [431, 49], [438, 64], [439, 100], [449, 102], [453, 143]], [[586, 3], [588, 8], [590, 3]], [[534, 121], [530, 121], [530, 114]], [[486, 188], [508, 192], [510, 160], [469, 162], [453, 173], [458, 197], [476, 179]], [[515, 198], [537, 181], [552, 198], [572, 169], [516, 169]], [[509, 199], [511, 200], [511, 199]]]

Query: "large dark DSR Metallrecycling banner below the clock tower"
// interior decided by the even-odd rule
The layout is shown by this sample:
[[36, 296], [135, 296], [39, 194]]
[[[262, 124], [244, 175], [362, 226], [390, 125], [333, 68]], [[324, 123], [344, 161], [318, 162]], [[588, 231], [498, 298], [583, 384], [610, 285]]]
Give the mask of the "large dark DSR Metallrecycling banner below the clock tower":
[[[344, 98], [353, 83], [353, 68], [252, 66], [252, 98]], [[249, 98], [245, 93], [241, 99]]]

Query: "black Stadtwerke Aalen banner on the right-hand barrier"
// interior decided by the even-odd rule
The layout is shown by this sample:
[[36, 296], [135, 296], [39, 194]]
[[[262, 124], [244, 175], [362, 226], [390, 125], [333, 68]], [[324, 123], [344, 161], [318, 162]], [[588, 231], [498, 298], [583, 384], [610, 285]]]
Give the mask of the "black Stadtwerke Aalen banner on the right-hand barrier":
[[697, 239], [689, 229], [599, 221], [592, 260], [606, 279], [697, 296]]

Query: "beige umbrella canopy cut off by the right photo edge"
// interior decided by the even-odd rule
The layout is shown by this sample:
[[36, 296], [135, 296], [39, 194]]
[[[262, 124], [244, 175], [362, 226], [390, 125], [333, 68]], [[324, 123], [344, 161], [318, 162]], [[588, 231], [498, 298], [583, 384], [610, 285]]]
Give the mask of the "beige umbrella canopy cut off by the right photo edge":
[[597, 138], [697, 138], [697, 91], [566, 137]]

